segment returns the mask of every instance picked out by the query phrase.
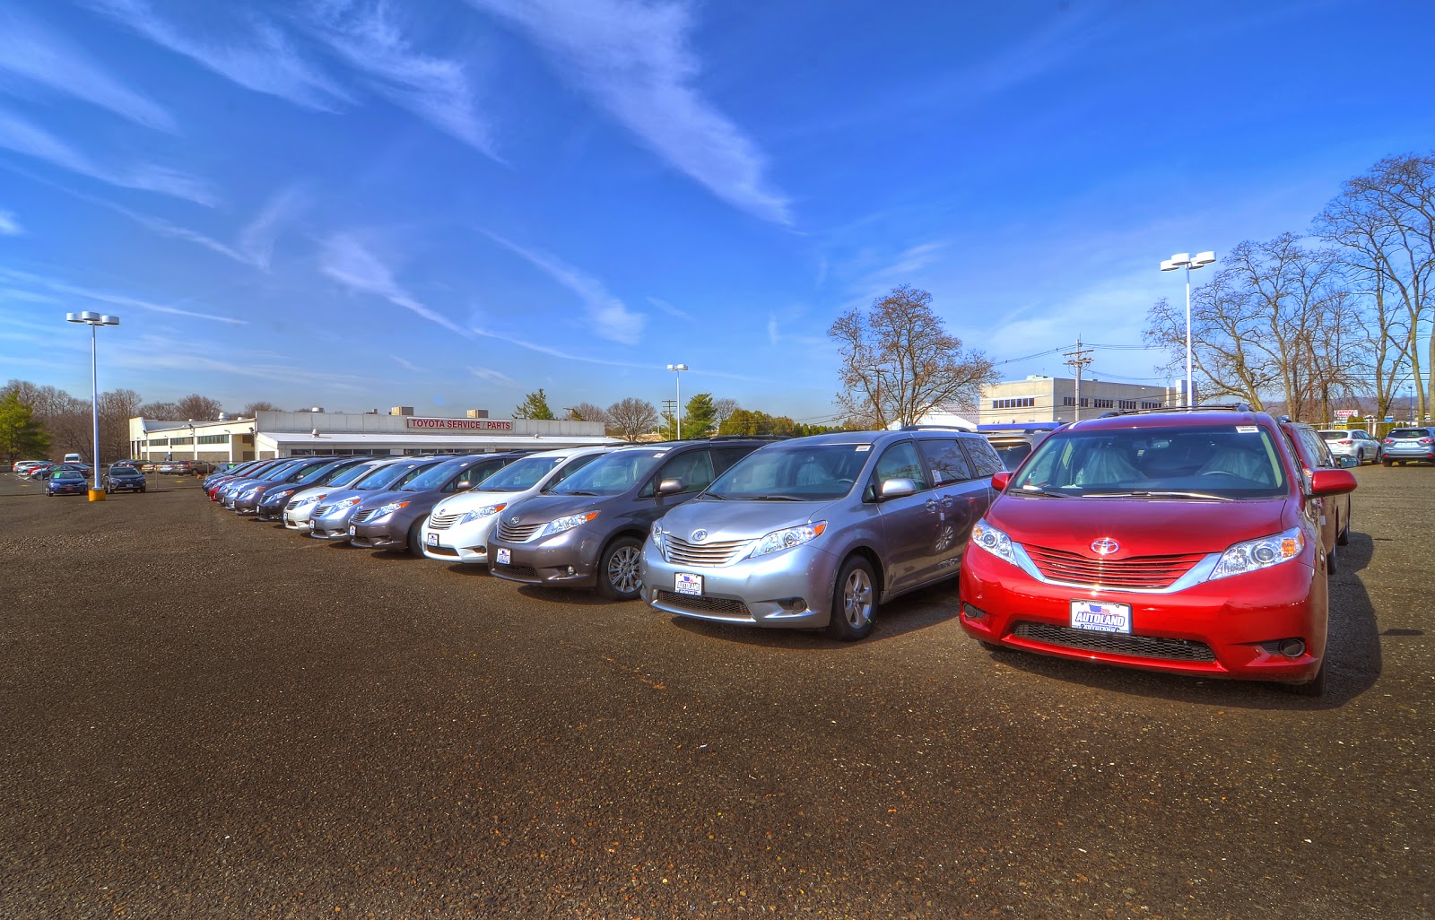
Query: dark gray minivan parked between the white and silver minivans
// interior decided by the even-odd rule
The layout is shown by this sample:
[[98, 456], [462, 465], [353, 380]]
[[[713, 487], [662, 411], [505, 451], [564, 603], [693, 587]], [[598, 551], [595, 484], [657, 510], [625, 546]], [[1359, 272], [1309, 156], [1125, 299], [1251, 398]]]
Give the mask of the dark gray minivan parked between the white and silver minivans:
[[766, 438], [712, 438], [617, 448], [551, 491], [505, 508], [488, 537], [488, 571], [552, 587], [639, 596], [639, 557], [653, 521], [703, 491]]

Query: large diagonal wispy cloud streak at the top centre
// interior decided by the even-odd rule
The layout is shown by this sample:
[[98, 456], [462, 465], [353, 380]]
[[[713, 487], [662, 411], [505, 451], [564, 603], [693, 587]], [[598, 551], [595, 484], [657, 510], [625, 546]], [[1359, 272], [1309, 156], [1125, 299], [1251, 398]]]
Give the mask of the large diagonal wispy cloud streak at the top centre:
[[766, 158], [693, 83], [687, 3], [643, 0], [469, 0], [518, 26], [639, 141], [713, 195], [762, 220], [791, 224], [788, 201], [763, 175]]

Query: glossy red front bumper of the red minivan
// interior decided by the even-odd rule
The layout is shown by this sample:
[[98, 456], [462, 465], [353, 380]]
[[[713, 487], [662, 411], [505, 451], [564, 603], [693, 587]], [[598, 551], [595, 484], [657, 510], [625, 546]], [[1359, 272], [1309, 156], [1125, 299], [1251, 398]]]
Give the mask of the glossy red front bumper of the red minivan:
[[[1326, 647], [1329, 599], [1306, 558], [1155, 594], [1046, 584], [971, 548], [959, 597], [961, 629], [974, 639], [1121, 667], [1300, 683], [1316, 676]], [[1131, 633], [1072, 629], [1078, 600], [1129, 604]], [[1304, 642], [1304, 653], [1281, 654], [1284, 639]]]

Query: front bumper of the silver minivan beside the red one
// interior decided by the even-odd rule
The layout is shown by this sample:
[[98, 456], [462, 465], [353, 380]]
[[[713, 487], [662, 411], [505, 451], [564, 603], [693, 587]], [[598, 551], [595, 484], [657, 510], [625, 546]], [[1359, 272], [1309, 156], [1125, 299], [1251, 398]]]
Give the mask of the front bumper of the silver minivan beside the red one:
[[[821, 629], [832, 619], [838, 563], [837, 555], [808, 543], [730, 565], [684, 565], [664, 560], [649, 537], [643, 545], [643, 600], [697, 620]], [[679, 593], [679, 574], [699, 576], [702, 593]]]

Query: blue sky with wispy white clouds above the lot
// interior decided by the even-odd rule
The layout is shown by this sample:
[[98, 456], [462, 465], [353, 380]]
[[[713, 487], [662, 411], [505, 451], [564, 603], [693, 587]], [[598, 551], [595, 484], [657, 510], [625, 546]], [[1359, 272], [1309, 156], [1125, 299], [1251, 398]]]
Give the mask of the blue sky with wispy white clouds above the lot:
[[[1165, 383], [1177, 251], [1435, 146], [1426, 0], [9, 0], [0, 380], [508, 416], [834, 416], [832, 320], [933, 294], [1003, 377]], [[1192, 276], [1200, 281], [1201, 276]]]

